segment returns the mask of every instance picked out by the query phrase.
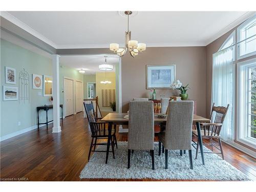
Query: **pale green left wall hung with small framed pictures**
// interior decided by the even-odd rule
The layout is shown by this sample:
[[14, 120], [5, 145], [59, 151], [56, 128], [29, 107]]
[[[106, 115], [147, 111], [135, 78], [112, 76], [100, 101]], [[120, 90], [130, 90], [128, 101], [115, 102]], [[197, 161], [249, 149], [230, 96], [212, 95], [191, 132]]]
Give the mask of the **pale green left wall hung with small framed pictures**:
[[[1, 39], [1, 132], [0, 136], [18, 132], [37, 124], [36, 106], [50, 104], [49, 97], [44, 97], [42, 90], [32, 89], [32, 74], [52, 76], [51, 59], [36, 54], [32, 51], [16, 46], [9, 41]], [[16, 69], [16, 84], [5, 84], [5, 66]], [[18, 87], [18, 74], [22, 69], [29, 73], [30, 100], [3, 101], [3, 86]], [[64, 94], [63, 77], [70, 77], [83, 81], [83, 75], [77, 70], [60, 67], [60, 103], [63, 104]], [[64, 113], [64, 112], [63, 112]], [[52, 110], [48, 112], [49, 120], [52, 120]], [[45, 111], [40, 111], [40, 122], [45, 122]], [[20, 125], [18, 125], [20, 122]]]

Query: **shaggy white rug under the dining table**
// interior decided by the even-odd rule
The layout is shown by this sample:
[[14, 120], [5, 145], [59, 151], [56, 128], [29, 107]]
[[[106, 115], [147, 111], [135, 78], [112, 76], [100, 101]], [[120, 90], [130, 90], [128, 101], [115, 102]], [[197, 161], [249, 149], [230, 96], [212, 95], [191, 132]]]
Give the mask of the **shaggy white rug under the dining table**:
[[[97, 149], [105, 148], [99, 145]], [[208, 149], [204, 147], [204, 150]], [[82, 169], [80, 178], [249, 180], [240, 170], [216, 154], [204, 154], [205, 165], [202, 165], [201, 155], [195, 159], [196, 150], [193, 148], [192, 152], [193, 170], [189, 168], [188, 151], [183, 156], [180, 156], [180, 151], [169, 151], [168, 169], [165, 169], [164, 154], [158, 156], [158, 142], [155, 142], [155, 170], [152, 170], [150, 153], [146, 151], [131, 153], [131, 168], [127, 169], [127, 142], [118, 142], [118, 149], [115, 148], [116, 159], [110, 153], [108, 164], [105, 164], [105, 153], [94, 153]]]

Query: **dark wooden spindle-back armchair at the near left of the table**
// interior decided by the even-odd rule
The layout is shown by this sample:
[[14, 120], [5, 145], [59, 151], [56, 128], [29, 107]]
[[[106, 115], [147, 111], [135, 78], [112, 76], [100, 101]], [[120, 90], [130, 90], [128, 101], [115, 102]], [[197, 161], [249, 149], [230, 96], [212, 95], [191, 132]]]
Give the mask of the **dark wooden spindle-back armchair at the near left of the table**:
[[[96, 151], [96, 145], [107, 145], [107, 143], [97, 143], [98, 139], [108, 139], [108, 127], [106, 127], [106, 123], [103, 121], [97, 121], [97, 118], [94, 113], [93, 109], [93, 103], [85, 103], [83, 102], [84, 109], [86, 110], [86, 115], [88, 118], [88, 122], [90, 125], [91, 129], [91, 137], [92, 137], [92, 142], [90, 145], [90, 150], [89, 150], [89, 155], [88, 155], [88, 161], [90, 160], [91, 152], [106, 152], [106, 151]], [[112, 130], [112, 129], [111, 129]], [[94, 146], [94, 149], [92, 150]], [[111, 132], [111, 146], [112, 146], [112, 153], [113, 153], [113, 158], [115, 159], [115, 152], [114, 152], [114, 147], [116, 146], [117, 148], [117, 139], [116, 139], [116, 129], [112, 130]]]

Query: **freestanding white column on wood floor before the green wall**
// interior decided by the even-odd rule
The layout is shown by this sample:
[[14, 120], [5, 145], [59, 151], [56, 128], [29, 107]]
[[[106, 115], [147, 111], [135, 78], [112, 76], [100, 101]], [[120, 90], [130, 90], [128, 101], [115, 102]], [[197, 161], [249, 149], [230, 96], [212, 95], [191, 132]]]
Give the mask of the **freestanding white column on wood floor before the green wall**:
[[59, 55], [52, 55], [52, 72], [53, 72], [53, 127], [52, 133], [61, 132], [59, 121]]

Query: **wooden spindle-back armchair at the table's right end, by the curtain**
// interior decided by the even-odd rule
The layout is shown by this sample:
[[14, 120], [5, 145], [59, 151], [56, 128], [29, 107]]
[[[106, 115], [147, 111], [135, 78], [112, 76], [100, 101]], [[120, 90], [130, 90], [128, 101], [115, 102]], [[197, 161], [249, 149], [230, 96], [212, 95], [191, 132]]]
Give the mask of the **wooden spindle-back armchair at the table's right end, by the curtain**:
[[[214, 103], [215, 104], [215, 103]], [[214, 147], [217, 148], [220, 153], [215, 153], [215, 154], [221, 154], [222, 159], [224, 160], [224, 153], [222, 150], [222, 144], [221, 144], [221, 128], [222, 128], [222, 124], [224, 122], [224, 119], [226, 117], [228, 108], [229, 108], [229, 104], [227, 105], [227, 107], [225, 106], [215, 106], [212, 105], [211, 108], [211, 113], [210, 113], [210, 119], [212, 121], [212, 123], [200, 123], [201, 126], [201, 136], [202, 139], [207, 139], [209, 140], [209, 143], [205, 143], [203, 142], [203, 145], [208, 145], [211, 147], [211, 152], [204, 152], [204, 153], [215, 153], [214, 152]], [[215, 118], [213, 117], [215, 116]], [[214, 120], [213, 120], [214, 118]], [[193, 136], [198, 138], [198, 133], [196, 130], [193, 130]], [[217, 140], [217, 142], [216, 142]], [[198, 156], [198, 140], [197, 142], [195, 142], [194, 140], [192, 140], [194, 142], [193, 145], [197, 145], [196, 149], [196, 159]], [[217, 146], [219, 146], [220, 148], [218, 148]]]

